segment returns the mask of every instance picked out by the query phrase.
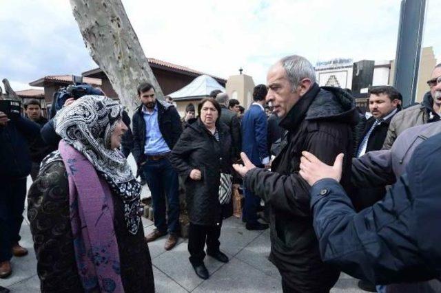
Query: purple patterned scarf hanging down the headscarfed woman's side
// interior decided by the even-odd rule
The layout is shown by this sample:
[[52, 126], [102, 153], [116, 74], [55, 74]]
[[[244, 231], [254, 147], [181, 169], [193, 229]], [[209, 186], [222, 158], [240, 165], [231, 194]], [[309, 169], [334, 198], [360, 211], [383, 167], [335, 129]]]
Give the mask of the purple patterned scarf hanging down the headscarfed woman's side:
[[124, 292], [110, 188], [79, 151], [61, 140], [68, 172], [76, 267], [85, 292]]

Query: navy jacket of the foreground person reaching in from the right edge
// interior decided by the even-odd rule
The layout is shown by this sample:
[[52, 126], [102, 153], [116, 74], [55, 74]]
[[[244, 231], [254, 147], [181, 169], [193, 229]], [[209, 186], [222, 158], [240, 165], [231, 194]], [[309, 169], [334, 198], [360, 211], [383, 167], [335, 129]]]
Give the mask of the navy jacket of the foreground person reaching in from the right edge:
[[441, 133], [416, 148], [382, 202], [360, 213], [338, 182], [316, 182], [311, 208], [323, 261], [377, 284], [439, 277], [440, 156]]

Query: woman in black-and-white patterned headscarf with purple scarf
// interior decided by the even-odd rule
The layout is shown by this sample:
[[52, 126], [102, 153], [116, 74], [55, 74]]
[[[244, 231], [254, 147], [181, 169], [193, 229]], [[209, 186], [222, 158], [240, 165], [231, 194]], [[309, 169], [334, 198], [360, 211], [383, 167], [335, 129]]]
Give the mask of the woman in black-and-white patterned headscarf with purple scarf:
[[122, 111], [105, 96], [83, 96], [54, 118], [59, 149], [28, 194], [42, 292], [154, 292], [141, 185], [117, 149]]

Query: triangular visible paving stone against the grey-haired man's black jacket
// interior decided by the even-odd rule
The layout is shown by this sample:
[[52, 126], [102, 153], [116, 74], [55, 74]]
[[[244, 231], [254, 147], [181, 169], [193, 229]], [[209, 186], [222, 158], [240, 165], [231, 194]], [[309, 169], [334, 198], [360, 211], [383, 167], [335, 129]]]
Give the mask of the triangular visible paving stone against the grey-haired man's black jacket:
[[240, 250], [240, 252], [236, 254], [236, 258], [252, 265], [252, 267], [268, 276], [279, 279], [280, 274], [276, 266], [268, 260], [271, 250], [270, 246], [271, 240], [269, 239], [269, 232], [264, 232], [254, 239], [252, 243], [249, 243], [248, 246], [243, 248], [243, 250]]

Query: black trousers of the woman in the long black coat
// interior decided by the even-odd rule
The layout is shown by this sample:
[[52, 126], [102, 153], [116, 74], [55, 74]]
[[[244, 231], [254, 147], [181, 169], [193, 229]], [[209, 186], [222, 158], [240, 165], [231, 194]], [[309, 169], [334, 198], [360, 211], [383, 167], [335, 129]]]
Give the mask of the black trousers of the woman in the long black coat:
[[204, 261], [204, 247], [207, 243], [207, 253], [216, 254], [219, 251], [220, 228], [222, 219], [214, 226], [201, 226], [190, 223], [188, 228], [188, 252], [190, 263], [200, 265]]

